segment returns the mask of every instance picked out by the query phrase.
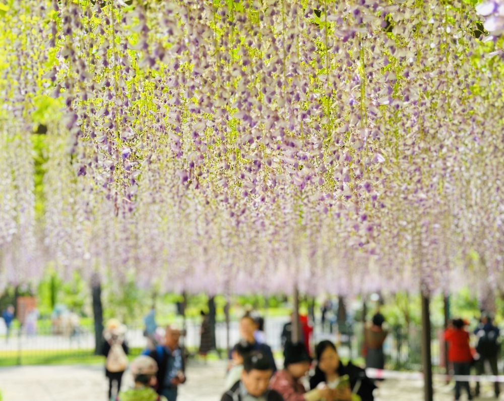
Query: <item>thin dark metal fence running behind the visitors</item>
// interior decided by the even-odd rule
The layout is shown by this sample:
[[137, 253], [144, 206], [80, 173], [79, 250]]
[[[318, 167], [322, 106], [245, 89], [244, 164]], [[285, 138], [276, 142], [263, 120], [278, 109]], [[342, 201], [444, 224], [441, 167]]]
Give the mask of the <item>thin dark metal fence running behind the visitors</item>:
[[[281, 332], [286, 318], [267, 318], [265, 320], [265, 333], [267, 342], [273, 351], [281, 351]], [[434, 365], [442, 362], [443, 345], [440, 338], [440, 328], [432, 332], [432, 359]], [[384, 351], [389, 367], [394, 369], [408, 368], [419, 369], [421, 365], [420, 349], [421, 327], [412, 325], [409, 332], [403, 327], [391, 329], [384, 344]], [[146, 347], [146, 338], [143, 335], [143, 326], [130, 325], [126, 334], [128, 344], [133, 355], [138, 354]], [[361, 357], [363, 330], [361, 323], [351, 326], [329, 325], [322, 327], [316, 324], [313, 332], [313, 341], [331, 339], [339, 343], [339, 353], [343, 358], [358, 359]], [[238, 321], [230, 322], [229, 345], [234, 345], [239, 340]], [[182, 338], [185, 347], [194, 355], [200, 345], [200, 323], [186, 321], [186, 335]], [[216, 345], [219, 350], [226, 350], [227, 329], [225, 322], [216, 323]], [[53, 363], [58, 360], [84, 361], [93, 355], [95, 348], [94, 327], [81, 325], [76, 330], [58, 332], [47, 324], [41, 325], [35, 333], [27, 333], [22, 329], [11, 331], [11, 335], [0, 335], [0, 366], [30, 365]], [[220, 353], [224, 356], [225, 353]]]

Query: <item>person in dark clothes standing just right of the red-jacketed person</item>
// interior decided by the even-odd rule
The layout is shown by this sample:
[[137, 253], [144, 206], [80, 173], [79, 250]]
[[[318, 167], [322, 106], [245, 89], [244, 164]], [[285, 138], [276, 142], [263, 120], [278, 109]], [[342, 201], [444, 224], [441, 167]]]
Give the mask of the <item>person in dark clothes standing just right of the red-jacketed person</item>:
[[[488, 363], [492, 375], [498, 375], [497, 358], [500, 353], [499, 329], [492, 324], [492, 318], [489, 315], [483, 315], [478, 327], [474, 330], [477, 338], [476, 352], [479, 355], [476, 361], [476, 373], [482, 375], [485, 371], [485, 362]], [[498, 382], [493, 383], [495, 398], [499, 397], [500, 387]], [[476, 382], [475, 395], [479, 395], [479, 381]]]

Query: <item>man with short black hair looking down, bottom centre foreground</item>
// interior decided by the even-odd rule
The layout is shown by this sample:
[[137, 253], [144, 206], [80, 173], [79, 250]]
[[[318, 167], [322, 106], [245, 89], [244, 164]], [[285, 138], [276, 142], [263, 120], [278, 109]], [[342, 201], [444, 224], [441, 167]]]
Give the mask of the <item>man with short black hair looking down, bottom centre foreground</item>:
[[253, 351], [245, 356], [240, 380], [221, 398], [221, 401], [283, 401], [275, 390], [269, 389], [273, 369], [267, 355]]

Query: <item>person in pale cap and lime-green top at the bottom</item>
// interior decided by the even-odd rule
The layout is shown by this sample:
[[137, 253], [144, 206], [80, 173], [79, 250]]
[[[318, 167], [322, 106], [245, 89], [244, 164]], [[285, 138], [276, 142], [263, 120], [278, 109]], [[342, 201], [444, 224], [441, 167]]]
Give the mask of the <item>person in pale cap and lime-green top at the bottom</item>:
[[153, 388], [156, 385], [158, 366], [156, 361], [146, 355], [141, 355], [132, 362], [130, 371], [135, 381], [135, 386], [121, 391], [116, 401], [167, 401], [166, 397], [159, 395]]

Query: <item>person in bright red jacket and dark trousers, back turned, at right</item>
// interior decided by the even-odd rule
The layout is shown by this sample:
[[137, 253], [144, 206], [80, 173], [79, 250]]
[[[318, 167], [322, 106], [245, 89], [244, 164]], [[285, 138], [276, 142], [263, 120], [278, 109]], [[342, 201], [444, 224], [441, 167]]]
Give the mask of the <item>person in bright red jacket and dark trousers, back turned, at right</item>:
[[[464, 328], [466, 323], [462, 319], [453, 319], [445, 331], [445, 340], [448, 342], [448, 360], [453, 363], [455, 375], [469, 375], [473, 360], [469, 347], [469, 333]], [[455, 399], [460, 398], [461, 388], [467, 390], [468, 399], [472, 399], [471, 387], [468, 381], [455, 381]]]

